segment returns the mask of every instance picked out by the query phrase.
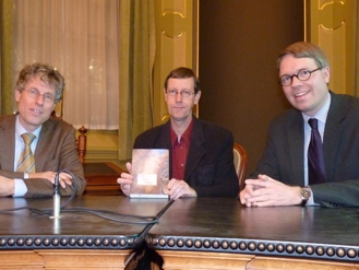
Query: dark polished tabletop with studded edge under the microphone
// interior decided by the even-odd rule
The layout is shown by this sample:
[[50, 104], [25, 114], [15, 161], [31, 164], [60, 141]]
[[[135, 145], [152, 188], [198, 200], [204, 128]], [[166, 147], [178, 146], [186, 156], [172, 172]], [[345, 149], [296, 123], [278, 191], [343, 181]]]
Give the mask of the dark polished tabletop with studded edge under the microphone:
[[[61, 198], [61, 206], [69, 198]], [[61, 210], [60, 219], [50, 219], [27, 209], [0, 213], [0, 249], [133, 249], [143, 240], [152, 224], [131, 216], [107, 220], [89, 211], [106, 210], [123, 215], [160, 215], [168, 200], [139, 200], [124, 196], [82, 196]], [[0, 198], [0, 211], [15, 208], [52, 209], [52, 198]], [[86, 211], [74, 211], [82, 208]], [[73, 212], [71, 212], [71, 211]], [[77, 209], [79, 210], [79, 209]], [[51, 212], [50, 212], [51, 213]], [[119, 219], [105, 213], [107, 216]]]

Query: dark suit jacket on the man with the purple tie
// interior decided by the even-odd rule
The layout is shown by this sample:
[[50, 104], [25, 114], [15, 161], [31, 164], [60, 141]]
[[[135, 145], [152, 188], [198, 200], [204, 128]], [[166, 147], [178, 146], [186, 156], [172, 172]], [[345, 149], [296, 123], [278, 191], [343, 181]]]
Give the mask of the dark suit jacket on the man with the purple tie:
[[[359, 207], [359, 98], [330, 92], [323, 148], [327, 184], [312, 185], [315, 203]], [[303, 186], [304, 127], [300, 111], [275, 118], [263, 157], [252, 177], [266, 174], [287, 185]]]

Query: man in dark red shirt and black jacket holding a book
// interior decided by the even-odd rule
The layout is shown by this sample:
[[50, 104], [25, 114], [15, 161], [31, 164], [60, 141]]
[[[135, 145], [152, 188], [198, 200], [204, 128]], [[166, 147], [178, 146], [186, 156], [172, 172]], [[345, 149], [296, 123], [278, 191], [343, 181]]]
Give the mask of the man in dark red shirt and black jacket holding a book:
[[[201, 97], [200, 81], [188, 68], [172, 70], [164, 95], [170, 115], [165, 125], [140, 134], [135, 149], [168, 149], [171, 199], [180, 197], [236, 197], [239, 183], [234, 166], [234, 138], [222, 127], [192, 115]], [[131, 164], [127, 164], [131, 172]], [[122, 173], [118, 183], [130, 193], [132, 175]]]

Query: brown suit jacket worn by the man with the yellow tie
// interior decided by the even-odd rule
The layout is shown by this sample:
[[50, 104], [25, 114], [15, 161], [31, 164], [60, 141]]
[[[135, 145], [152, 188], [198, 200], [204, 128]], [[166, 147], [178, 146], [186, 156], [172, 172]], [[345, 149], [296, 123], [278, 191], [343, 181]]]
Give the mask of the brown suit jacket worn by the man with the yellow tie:
[[[0, 175], [9, 178], [24, 177], [14, 172], [15, 115], [0, 116]], [[43, 124], [34, 153], [36, 173], [67, 169], [76, 177], [77, 195], [82, 195], [86, 181], [80, 162], [75, 129], [65, 121], [50, 118]], [[46, 179], [24, 179], [27, 192], [24, 197], [48, 197], [53, 195], [53, 185]], [[72, 193], [73, 186], [61, 188], [62, 196]]]

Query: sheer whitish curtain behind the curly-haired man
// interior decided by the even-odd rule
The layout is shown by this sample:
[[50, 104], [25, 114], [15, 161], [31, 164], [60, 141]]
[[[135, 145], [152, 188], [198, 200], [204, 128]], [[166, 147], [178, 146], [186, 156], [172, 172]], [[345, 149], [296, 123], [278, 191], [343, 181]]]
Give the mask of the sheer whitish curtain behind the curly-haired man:
[[57, 68], [65, 80], [62, 118], [75, 128], [118, 129], [118, 0], [15, 0], [15, 77], [34, 61]]

